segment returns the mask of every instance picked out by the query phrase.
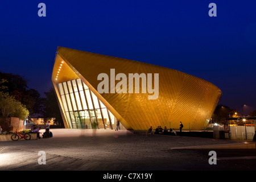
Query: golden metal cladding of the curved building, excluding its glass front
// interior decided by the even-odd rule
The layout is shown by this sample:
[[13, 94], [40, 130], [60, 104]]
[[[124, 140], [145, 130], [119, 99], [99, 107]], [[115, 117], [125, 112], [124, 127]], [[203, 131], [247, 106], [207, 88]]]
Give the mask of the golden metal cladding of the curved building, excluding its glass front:
[[[110, 78], [110, 69], [113, 68], [115, 75], [125, 73], [127, 77], [129, 73], [158, 73], [158, 98], [148, 100], [148, 95], [152, 95], [149, 93], [98, 93], [97, 86], [101, 82], [97, 79], [98, 75], [106, 73]], [[170, 123], [171, 128], [177, 129], [180, 121], [183, 129], [189, 129], [189, 125], [191, 130], [203, 129], [222, 95], [221, 90], [212, 83], [175, 69], [58, 47], [52, 82], [62, 114], [63, 106], [56, 84], [77, 78], [81, 78], [126, 129], [133, 130], [147, 130], [150, 126], [169, 128]], [[115, 81], [115, 84], [118, 82]], [[64, 114], [63, 119], [68, 128]]]

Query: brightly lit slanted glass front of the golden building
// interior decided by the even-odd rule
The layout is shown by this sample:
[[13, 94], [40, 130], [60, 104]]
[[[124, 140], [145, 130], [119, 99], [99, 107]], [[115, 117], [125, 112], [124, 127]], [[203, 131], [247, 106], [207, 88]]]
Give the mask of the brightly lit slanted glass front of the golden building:
[[117, 119], [81, 79], [62, 82], [57, 88], [69, 128], [115, 129]]

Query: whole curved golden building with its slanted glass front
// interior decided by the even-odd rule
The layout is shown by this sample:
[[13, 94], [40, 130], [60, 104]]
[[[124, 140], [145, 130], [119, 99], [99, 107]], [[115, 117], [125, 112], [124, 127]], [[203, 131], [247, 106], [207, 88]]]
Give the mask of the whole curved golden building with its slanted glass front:
[[221, 90], [175, 69], [58, 47], [52, 83], [69, 129], [203, 129]]

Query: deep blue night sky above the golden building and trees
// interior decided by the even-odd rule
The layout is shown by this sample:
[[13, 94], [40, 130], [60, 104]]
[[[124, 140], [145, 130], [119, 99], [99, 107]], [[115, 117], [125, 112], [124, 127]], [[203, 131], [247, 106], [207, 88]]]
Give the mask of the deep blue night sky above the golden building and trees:
[[[38, 4], [46, 4], [46, 17]], [[217, 17], [209, 17], [209, 3]], [[51, 86], [57, 46], [161, 65], [212, 82], [219, 104], [256, 109], [256, 1], [1, 1], [0, 71]]]

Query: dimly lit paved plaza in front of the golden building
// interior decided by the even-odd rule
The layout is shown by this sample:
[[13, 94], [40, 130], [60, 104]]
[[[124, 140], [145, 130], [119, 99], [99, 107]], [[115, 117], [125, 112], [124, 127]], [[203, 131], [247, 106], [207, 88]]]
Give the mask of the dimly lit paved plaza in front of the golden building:
[[[255, 170], [255, 142], [127, 130], [52, 129], [53, 138], [0, 142], [3, 171]], [[43, 132], [43, 130], [42, 130]], [[246, 147], [254, 145], [253, 147]], [[253, 145], [251, 145], [253, 144]], [[46, 164], [39, 164], [40, 151]], [[209, 164], [216, 151], [217, 164]]]

